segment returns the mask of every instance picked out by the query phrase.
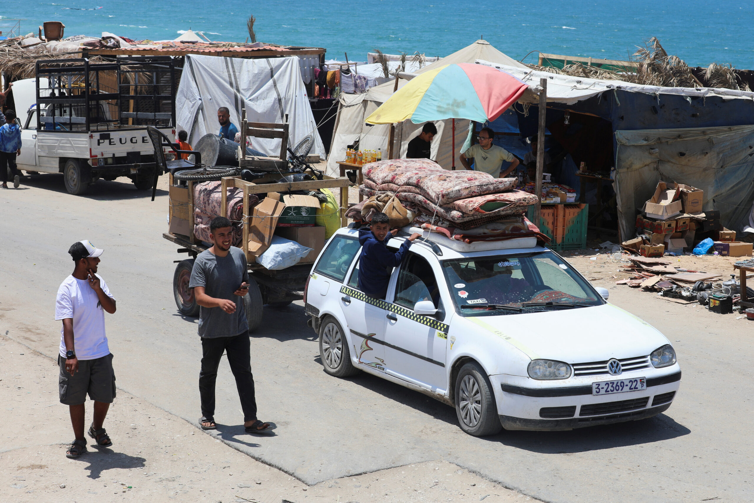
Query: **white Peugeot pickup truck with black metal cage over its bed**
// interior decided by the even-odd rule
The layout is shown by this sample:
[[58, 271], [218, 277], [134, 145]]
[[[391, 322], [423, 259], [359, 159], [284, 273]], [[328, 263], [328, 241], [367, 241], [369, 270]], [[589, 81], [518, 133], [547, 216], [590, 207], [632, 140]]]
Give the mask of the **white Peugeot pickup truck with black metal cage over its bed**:
[[[40, 64], [46, 62], [39, 62], [37, 78], [14, 82], [22, 140], [18, 168], [32, 174], [63, 173], [71, 194], [86, 192], [97, 179], [119, 176], [130, 178], [136, 189], [151, 189], [156, 166], [146, 126], [155, 125], [175, 136], [175, 79], [161, 85], [131, 84], [133, 78], [124, 78], [127, 72], [119, 63], [103, 67], [102, 63], [68, 61], [75, 66], [50, 69]], [[81, 71], [85, 67], [87, 72]], [[169, 69], [173, 71], [172, 64]], [[149, 70], [147, 75], [155, 75]], [[99, 78], [84, 78], [93, 73]], [[146, 94], [142, 87], [157, 90]], [[139, 101], [147, 102], [146, 106]]]

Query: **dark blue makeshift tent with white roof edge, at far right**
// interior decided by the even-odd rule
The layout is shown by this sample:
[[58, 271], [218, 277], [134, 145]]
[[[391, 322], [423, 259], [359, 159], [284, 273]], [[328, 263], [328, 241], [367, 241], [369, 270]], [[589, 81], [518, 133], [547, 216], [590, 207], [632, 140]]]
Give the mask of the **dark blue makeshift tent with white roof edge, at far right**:
[[[703, 210], [719, 210], [723, 225], [740, 231], [754, 201], [754, 93], [713, 87], [658, 87], [557, 75], [477, 60], [530, 86], [547, 78], [547, 127], [562, 129], [566, 111], [605, 123], [614, 156], [618, 224], [634, 235], [637, 210], [657, 182], [704, 191]], [[529, 87], [513, 106], [522, 137], [536, 133], [538, 95]], [[585, 124], [584, 121], [579, 125]], [[575, 130], [571, 124], [570, 130]], [[570, 133], [566, 131], [567, 134]], [[595, 136], [596, 137], [596, 136]], [[605, 143], [611, 141], [605, 139]], [[575, 167], [573, 167], [575, 169]]]

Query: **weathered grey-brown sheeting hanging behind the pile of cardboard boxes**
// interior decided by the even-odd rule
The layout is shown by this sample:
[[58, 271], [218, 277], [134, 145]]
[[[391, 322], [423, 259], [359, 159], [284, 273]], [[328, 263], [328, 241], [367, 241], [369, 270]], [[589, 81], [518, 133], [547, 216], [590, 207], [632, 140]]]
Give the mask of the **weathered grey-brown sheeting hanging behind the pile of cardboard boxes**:
[[702, 189], [703, 210], [719, 210], [731, 230], [749, 224], [754, 126], [618, 130], [615, 138], [615, 192], [624, 239], [633, 237], [637, 210], [661, 180]]

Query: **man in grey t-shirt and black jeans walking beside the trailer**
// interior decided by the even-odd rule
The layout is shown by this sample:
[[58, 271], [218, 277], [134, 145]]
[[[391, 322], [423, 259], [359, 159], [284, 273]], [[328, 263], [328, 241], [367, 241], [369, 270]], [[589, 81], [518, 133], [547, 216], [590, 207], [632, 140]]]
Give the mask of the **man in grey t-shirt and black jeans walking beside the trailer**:
[[204, 430], [214, 430], [215, 380], [222, 354], [235, 377], [241, 408], [244, 409], [244, 427], [248, 433], [267, 433], [269, 423], [256, 419], [254, 378], [251, 374], [249, 323], [244, 309], [244, 296], [249, 291], [249, 273], [246, 256], [236, 247], [232, 222], [218, 216], [210, 222], [210, 239], [213, 246], [200, 253], [194, 261], [189, 288], [194, 289], [199, 310], [199, 336], [201, 336], [201, 372], [199, 395], [201, 414], [199, 424]]

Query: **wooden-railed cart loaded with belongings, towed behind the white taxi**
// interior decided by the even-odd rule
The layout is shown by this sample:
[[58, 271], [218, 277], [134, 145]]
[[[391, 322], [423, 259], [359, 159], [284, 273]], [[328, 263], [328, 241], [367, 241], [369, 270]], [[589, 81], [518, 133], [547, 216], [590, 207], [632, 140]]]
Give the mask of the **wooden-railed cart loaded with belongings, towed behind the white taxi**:
[[[257, 183], [246, 182], [235, 176], [228, 176], [222, 179], [222, 204], [221, 216], [226, 216], [227, 212], [227, 191], [231, 187], [237, 187], [244, 191], [244, 221], [243, 239], [241, 247], [247, 256], [249, 268], [249, 293], [244, 297], [244, 306], [246, 308], [247, 319], [249, 321], [249, 330], [253, 331], [262, 323], [262, 306], [269, 305], [272, 308], [283, 308], [294, 300], [303, 298], [303, 291], [306, 280], [311, 271], [311, 263], [303, 265], [293, 265], [289, 268], [278, 271], [270, 271], [256, 262], [256, 258], [249, 253], [249, 195], [266, 194], [267, 192], [285, 193], [299, 190], [317, 190], [317, 189], [340, 189], [341, 205], [340, 217], [341, 225], [347, 225], [345, 210], [348, 208], [348, 186], [351, 182], [348, 178], [332, 178], [325, 176], [322, 180], [308, 180], [305, 182], [284, 182], [271, 183], [274, 177], [270, 179], [259, 179]], [[264, 183], [264, 182], [267, 183]], [[173, 186], [173, 176], [170, 176], [170, 185]], [[194, 259], [199, 253], [207, 250], [201, 240], [194, 235], [194, 182], [187, 182], [188, 189], [188, 217], [189, 217], [189, 235], [177, 234], [176, 232], [166, 232], [162, 235], [167, 241], [171, 241], [179, 248], [178, 253], [188, 253], [190, 258], [185, 260], [176, 260], [176, 271], [173, 275], [173, 296], [179, 311], [186, 316], [198, 316], [199, 306], [194, 298], [193, 290], [189, 288], [189, 279], [194, 265]], [[171, 203], [172, 204], [172, 203]], [[173, 208], [170, 210], [170, 217], [173, 218]]]

